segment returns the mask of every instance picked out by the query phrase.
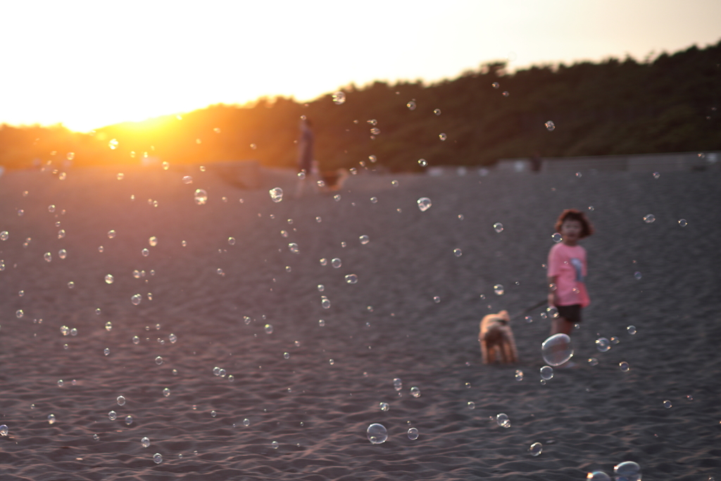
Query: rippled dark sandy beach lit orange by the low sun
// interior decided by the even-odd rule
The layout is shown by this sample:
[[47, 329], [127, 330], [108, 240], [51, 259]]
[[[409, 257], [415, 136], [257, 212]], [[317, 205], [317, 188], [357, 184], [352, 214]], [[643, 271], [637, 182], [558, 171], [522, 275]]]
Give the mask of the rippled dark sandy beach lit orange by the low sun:
[[[336, 200], [212, 164], [5, 172], [0, 478], [721, 479], [721, 173], [582, 174], [357, 175]], [[563, 208], [596, 228], [591, 304], [541, 384], [542, 309], [515, 366], [482, 365], [478, 323], [544, 299]]]

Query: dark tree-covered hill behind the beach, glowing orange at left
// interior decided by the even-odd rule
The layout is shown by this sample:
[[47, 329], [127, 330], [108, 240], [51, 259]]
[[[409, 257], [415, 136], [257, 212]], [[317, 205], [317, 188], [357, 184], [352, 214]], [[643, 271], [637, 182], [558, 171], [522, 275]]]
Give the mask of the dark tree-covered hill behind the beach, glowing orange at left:
[[[429, 165], [487, 165], [536, 152], [721, 150], [721, 42], [642, 63], [611, 58], [513, 74], [504, 69], [503, 63], [490, 63], [428, 86], [380, 81], [350, 86], [342, 89], [340, 105], [332, 94], [306, 104], [277, 97], [213, 105], [182, 118], [110, 125], [91, 134], [3, 125], [0, 164], [30, 167], [66, 159], [68, 152], [77, 165], [134, 163], [147, 152], [177, 163], [257, 159], [292, 167], [301, 115], [311, 120], [323, 169], [371, 167], [369, 156], [376, 165], [408, 171], [421, 169], [419, 159]], [[545, 125], [549, 120], [552, 131]], [[116, 149], [110, 149], [112, 139]]]

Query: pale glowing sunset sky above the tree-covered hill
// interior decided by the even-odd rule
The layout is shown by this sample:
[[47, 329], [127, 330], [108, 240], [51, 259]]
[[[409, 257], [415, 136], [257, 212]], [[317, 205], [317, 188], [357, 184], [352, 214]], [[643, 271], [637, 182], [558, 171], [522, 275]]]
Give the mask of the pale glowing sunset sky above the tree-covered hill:
[[0, 123], [89, 131], [497, 59], [642, 60], [719, 40], [721, 0], [0, 0]]

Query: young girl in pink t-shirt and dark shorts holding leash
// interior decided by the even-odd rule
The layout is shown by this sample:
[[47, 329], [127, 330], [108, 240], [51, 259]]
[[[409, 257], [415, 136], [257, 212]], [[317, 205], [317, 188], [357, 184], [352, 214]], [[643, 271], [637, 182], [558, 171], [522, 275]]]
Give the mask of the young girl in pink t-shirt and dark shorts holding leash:
[[563, 240], [548, 255], [548, 304], [558, 309], [558, 317], [551, 319], [551, 335], [570, 335], [573, 325], [581, 322], [581, 308], [590, 304], [584, 282], [586, 253], [578, 240], [593, 234], [593, 226], [583, 212], [566, 209], [555, 228]]

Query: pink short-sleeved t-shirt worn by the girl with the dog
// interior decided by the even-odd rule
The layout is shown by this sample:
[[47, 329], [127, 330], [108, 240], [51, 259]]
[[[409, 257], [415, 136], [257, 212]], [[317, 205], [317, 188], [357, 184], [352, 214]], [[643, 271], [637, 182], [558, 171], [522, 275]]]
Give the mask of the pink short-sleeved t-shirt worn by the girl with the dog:
[[586, 257], [580, 245], [562, 242], [551, 247], [548, 254], [548, 276], [556, 278], [556, 299], [559, 306], [590, 304], [585, 288]]

